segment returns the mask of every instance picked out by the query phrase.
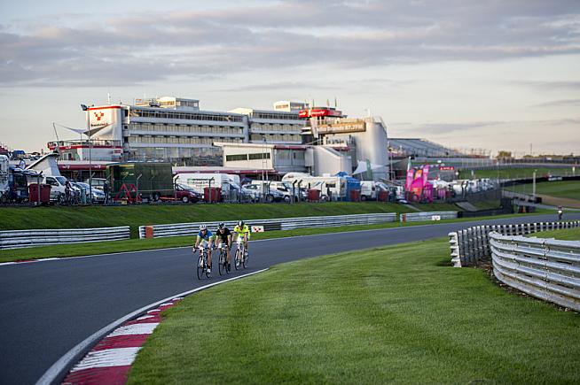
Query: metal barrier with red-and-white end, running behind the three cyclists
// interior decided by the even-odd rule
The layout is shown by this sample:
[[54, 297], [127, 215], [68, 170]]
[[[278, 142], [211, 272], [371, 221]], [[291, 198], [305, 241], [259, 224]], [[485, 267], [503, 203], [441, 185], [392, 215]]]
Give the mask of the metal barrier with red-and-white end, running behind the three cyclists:
[[[264, 231], [272, 230], [292, 230], [303, 227], [337, 227], [349, 225], [371, 225], [375, 223], [394, 222], [396, 220], [395, 212], [376, 213], [376, 214], [352, 214], [352, 215], [335, 215], [328, 217], [300, 217], [300, 218], [279, 218], [279, 219], [247, 219], [249, 226], [263, 226]], [[233, 228], [236, 225], [235, 220], [224, 220], [225, 226]], [[220, 221], [214, 222], [194, 222], [194, 223], [174, 223], [170, 225], [153, 225], [149, 226], [150, 231], [153, 228], [153, 237], [159, 238], [164, 236], [194, 235], [200, 231], [200, 225], [207, 225], [208, 228], [217, 228]], [[139, 227], [139, 237], [145, 238], [145, 229], [148, 226]]]

